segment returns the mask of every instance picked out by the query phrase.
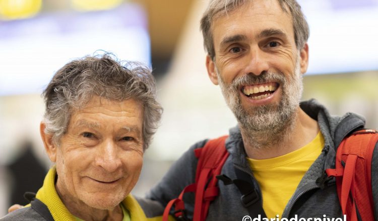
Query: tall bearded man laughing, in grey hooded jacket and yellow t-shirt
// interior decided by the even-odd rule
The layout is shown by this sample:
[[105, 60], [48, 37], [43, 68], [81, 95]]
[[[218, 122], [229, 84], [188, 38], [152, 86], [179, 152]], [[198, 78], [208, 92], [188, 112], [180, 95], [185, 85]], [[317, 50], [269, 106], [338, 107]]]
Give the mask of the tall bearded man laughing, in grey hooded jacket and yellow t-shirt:
[[[220, 85], [238, 122], [225, 142], [229, 156], [221, 174], [229, 179], [219, 177], [226, 182], [218, 183], [219, 195], [210, 204], [207, 220], [252, 220], [257, 214], [269, 220], [342, 218], [335, 179], [327, 178], [325, 169], [335, 165], [337, 138], [363, 128], [364, 119], [351, 113], [331, 116], [316, 100], [300, 102], [309, 57], [309, 30], [300, 6], [295, 0], [211, 0], [201, 29], [208, 75]], [[148, 197], [166, 205], [195, 183], [194, 150], [207, 142], [192, 146]], [[376, 186], [377, 145], [371, 168]], [[250, 212], [245, 198], [241, 203], [242, 191], [228, 182], [240, 176], [255, 186], [255, 199], [261, 202], [250, 203], [262, 208]], [[184, 197], [189, 217], [194, 211], [192, 196]], [[378, 188], [372, 189], [371, 198], [378, 220]], [[358, 203], [360, 209], [366, 205]], [[196, 221], [203, 219], [198, 217]]]

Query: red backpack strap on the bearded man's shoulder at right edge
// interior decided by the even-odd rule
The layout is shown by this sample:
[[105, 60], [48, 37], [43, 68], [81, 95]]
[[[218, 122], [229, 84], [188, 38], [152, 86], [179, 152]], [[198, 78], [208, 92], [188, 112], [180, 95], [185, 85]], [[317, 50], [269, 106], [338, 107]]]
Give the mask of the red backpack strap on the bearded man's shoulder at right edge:
[[340, 205], [347, 220], [374, 220], [371, 160], [377, 142], [375, 130], [353, 133], [337, 148], [336, 168], [326, 170], [328, 176], [336, 177]]

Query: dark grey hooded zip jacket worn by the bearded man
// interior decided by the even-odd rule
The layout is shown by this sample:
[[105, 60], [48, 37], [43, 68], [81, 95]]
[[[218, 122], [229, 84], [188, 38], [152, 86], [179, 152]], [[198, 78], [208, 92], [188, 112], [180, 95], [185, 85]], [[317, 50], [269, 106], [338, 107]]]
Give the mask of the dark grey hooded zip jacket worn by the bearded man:
[[[325, 139], [325, 146], [316, 161], [310, 166], [301, 179], [293, 196], [286, 205], [280, 218], [291, 218], [297, 215], [298, 219], [309, 217], [340, 217], [342, 211], [339, 204], [335, 179], [324, 179], [327, 168], [335, 166], [335, 146], [350, 132], [363, 128], [365, 120], [356, 114], [347, 113], [343, 117], [331, 116], [327, 109], [316, 100], [301, 102], [300, 107], [314, 120], [318, 121], [320, 130]], [[176, 198], [181, 190], [188, 184], [194, 183], [198, 159], [194, 155], [194, 149], [201, 148], [207, 140], [198, 142], [178, 159], [168, 173], [149, 193], [148, 198], [157, 200], [166, 205], [170, 199]], [[378, 144], [375, 145], [372, 160], [372, 186], [375, 219], [378, 211]], [[230, 129], [229, 138], [226, 140], [226, 149], [230, 156], [226, 160], [222, 174], [236, 179], [235, 167], [246, 171], [252, 177], [255, 186], [259, 186], [246, 161], [246, 154], [238, 127]], [[242, 220], [249, 215], [248, 211], [240, 203], [240, 192], [235, 185], [225, 186], [219, 183], [219, 196], [210, 204], [207, 220]], [[375, 185], [374, 185], [375, 184]], [[260, 189], [258, 192], [261, 195]], [[193, 214], [194, 195], [188, 193], [185, 204], [188, 214]], [[324, 216], [326, 215], [326, 216]]]

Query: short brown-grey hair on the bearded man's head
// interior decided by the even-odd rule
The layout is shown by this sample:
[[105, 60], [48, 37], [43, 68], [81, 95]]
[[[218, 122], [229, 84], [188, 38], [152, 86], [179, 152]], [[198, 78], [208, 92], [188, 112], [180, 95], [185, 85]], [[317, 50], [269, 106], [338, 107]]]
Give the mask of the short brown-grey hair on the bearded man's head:
[[[214, 18], [226, 15], [252, 1], [253, 0], [210, 0], [209, 6], [201, 19], [201, 31], [204, 37], [205, 49], [212, 60], [214, 60], [215, 57], [212, 33]], [[309, 28], [299, 4], [295, 0], [272, 1], [277, 1], [284, 12], [288, 13], [288, 10], [290, 11], [296, 47], [298, 50], [301, 50], [308, 40]]]

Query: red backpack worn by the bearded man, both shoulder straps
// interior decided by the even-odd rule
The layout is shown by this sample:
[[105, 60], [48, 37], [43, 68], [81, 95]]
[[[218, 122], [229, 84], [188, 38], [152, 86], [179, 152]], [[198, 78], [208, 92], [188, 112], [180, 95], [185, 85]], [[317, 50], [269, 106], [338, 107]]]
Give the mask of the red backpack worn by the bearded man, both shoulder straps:
[[[227, 137], [209, 140], [203, 148], [195, 150], [195, 155], [199, 159], [196, 182], [186, 186], [176, 199], [169, 201], [164, 210], [163, 221], [168, 220], [173, 205], [174, 216], [178, 220], [190, 220], [186, 217], [182, 200], [185, 192], [196, 194], [193, 221], [206, 219], [210, 202], [219, 194], [217, 175], [229, 156], [225, 148]], [[340, 205], [343, 214], [347, 215], [347, 220], [374, 220], [371, 159], [377, 142], [378, 132], [375, 130], [353, 133], [344, 138], [337, 149], [336, 168], [326, 170], [328, 176], [336, 177]]]

